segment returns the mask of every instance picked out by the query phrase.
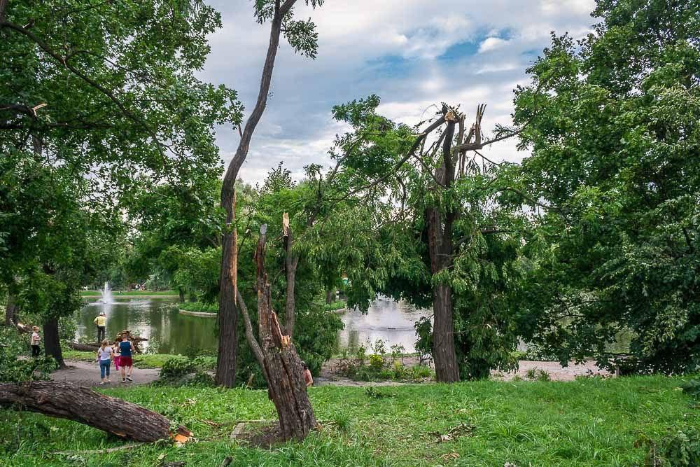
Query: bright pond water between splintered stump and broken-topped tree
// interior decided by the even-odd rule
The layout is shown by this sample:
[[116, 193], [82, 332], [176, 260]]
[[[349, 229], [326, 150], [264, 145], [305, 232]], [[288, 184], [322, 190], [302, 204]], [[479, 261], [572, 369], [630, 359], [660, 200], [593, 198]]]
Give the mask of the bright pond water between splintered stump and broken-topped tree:
[[379, 297], [367, 314], [352, 310], [341, 315], [345, 328], [338, 333], [338, 347], [355, 351], [358, 344], [367, 347], [368, 343], [381, 339], [387, 351], [395, 344], [402, 345], [407, 352], [415, 351], [417, 337], [413, 325], [430, 314], [428, 309], [416, 309], [405, 302]]

